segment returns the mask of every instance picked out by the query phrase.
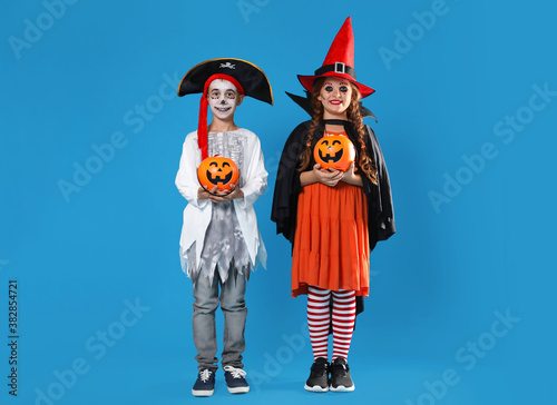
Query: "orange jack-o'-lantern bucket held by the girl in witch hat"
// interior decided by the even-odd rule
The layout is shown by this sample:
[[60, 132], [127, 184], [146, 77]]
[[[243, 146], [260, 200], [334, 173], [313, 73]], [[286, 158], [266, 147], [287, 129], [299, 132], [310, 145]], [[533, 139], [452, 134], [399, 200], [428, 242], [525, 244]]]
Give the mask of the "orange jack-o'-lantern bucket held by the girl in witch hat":
[[322, 169], [346, 171], [355, 159], [355, 149], [348, 137], [331, 135], [317, 141], [313, 158]]

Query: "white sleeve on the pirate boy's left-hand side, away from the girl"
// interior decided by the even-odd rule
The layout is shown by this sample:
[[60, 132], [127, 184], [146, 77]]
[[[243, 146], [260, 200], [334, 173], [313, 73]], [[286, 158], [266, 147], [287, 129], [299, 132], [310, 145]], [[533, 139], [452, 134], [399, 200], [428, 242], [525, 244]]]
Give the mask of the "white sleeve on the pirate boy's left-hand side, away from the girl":
[[201, 164], [201, 151], [193, 134], [186, 137], [182, 148], [178, 174], [176, 175], [176, 187], [179, 194], [187, 199], [187, 202], [195, 207], [203, 208], [209, 201], [197, 198], [197, 190], [201, 187], [197, 180], [197, 167]]

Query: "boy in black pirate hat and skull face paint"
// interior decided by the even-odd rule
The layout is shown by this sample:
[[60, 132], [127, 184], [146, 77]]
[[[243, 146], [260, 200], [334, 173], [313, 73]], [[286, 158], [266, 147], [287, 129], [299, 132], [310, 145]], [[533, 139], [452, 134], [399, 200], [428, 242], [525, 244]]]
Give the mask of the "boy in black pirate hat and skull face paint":
[[[188, 204], [180, 236], [183, 269], [192, 278], [192, 316], [197, 381], [192, 394], [214, 392], [216, 332], [215, 310], [224, 313], [222, 365], [228, 391], [247, 393], [242, 353], [247, 315], [244, 294], [250, 270], [265, 266], [266, 251], [257, 227], [254, 201], [267, 185], [258, 138], [234, 122], [245, 96], [273, 103], [268, 80], [256, 66], [233, 58], [212, 59], [192, 68], [182, 79], [178, 96], [202, 92], [197, 131], [187, 135], [176, 176], [176, 186]], [[213, 120], [207, 128], [207, 107]], [[207, 157], [232, 159], [240, 179], [226, 194], [201, 187], [197, 167]], [[221, 289], [221, 294], [218, 290]]]

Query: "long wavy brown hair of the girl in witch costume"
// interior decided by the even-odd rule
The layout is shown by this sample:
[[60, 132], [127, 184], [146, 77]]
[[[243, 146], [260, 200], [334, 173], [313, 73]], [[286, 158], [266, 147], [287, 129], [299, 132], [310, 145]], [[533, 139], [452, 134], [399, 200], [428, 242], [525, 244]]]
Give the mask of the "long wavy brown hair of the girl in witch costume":
[[[323, 103], [319, 100], [319, 96], [321, 92], [321, 87], [323, 86], [325, 78], [319, 78], [313, 83], [313, 92], [311, 98], [312, 105], [312, 121], [310, 124], [310, 128], [307, 129], [307, 139], [304, 151], [300, 155], [300, 164], [297, 170], [303, 171], [307, 168], [311, 160], [312, 154], [312, 141], [315, 136], [315, 131], [317, 127], [323, 126]], [[360, 90], [354, 83], [350, 83], [352, 87], [352, 99], [346, 109], [346, 117], [352, 127], [352, 131], [356, 135], [358, 141], [360, 142], [360, 159], [359, 167], [361, 171], [368, 177], [371, 182], [374, 185], [378, 184], [378, 170], [375, 165], [373, 165], [373, 160], [368, 156], [368, 151], [365, 148], [365, 127], [363, 126], [362, 115], [360, 113]]]

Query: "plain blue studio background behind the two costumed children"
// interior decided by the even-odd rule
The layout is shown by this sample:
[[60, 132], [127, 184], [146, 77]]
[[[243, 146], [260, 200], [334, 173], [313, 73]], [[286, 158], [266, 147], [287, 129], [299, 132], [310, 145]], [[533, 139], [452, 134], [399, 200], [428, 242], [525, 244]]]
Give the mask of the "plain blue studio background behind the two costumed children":
[[[236, 113], [260, 136], [270, 171], [256, 202], [268, 265], [246, 296], [252, 392], [229, 395], [218, 372], [209, 401], [555, 403], [554, 6], [47, 0], [2, 9], [2, 404], [198, 401], [192, 287], [178, 259], [185, 200], [174, 186], [198, 97], [175, 90], [190, 67], [219, 57], [258, 65], [275, 106], [247, 99]], [[270, 211], [278, 154], [307, 118], [284, 91], [302, 93], [295, 75], [321, 66], [348, 16], [359, 80], [377, 89], [364, 105], [379, 124], [367, 124], [388, 162], [398, 233], [373, 251], [349, 358], [356, 391], [339, 397], [303, 389], [305, 298], [290, 297], [290, 245]], [[536, 86], [549, 89], [545, 99]], [[65, 194], [61, 181], [75, 188]], [[18, 397], [7, 386], [9, 279], [19, 287]]]

